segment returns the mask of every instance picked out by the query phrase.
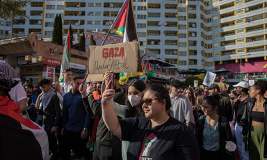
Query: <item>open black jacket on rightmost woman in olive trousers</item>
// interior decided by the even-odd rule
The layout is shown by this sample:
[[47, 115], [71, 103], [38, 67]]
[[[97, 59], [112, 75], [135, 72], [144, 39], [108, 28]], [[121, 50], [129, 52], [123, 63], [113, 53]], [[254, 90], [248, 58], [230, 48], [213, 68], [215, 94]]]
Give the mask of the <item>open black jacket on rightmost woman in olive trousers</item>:
[[[243, 113], [243, 117], [241, 118], [241, 122], [245, 123], [243, 127], [242, 134], [247, 136], [245, 141], [245, 150], [249, 150], [249, 138], [250, 138], [250, 127], [252, 123], [252, 118], [250, 118], [250, 113], [255, 105], [256, 99], [251, 99], [248, 102], [247, 108]], [[264, 158], [267, 158], [267, 100], [264, 102]]]

